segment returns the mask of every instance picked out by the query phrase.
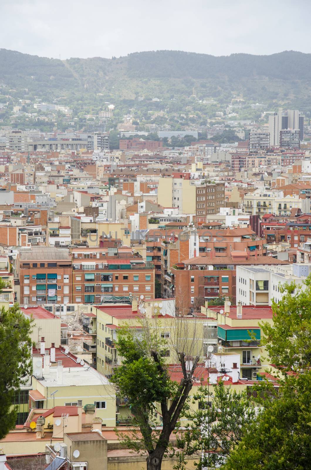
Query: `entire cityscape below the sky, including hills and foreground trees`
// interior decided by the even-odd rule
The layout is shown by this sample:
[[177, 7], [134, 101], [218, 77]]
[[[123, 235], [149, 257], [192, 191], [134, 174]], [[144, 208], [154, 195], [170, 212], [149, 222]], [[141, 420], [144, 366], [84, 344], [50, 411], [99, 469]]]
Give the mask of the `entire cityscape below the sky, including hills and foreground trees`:
[[0, 49], [0, 470], [310, 468], [308, 61]]

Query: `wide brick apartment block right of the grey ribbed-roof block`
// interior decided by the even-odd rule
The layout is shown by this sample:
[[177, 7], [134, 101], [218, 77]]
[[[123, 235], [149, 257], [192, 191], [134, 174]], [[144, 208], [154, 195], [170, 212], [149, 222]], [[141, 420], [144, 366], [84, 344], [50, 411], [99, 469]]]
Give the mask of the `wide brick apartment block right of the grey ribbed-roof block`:
[[132, 249], [72, 248], [72, 295], [76, 304], [124, 302], [155, 296], [155, 267]]

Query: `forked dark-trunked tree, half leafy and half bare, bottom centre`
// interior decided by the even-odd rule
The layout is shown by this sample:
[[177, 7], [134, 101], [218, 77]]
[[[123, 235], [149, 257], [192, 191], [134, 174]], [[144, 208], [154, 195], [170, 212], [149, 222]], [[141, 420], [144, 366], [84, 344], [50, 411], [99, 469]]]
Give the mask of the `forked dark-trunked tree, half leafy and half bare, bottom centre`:
[[[159, 330], [159, 324], [153, 324], [150, 329], [146, 323], [143, 324], [139, 337], [131, 328], [121, 331], [117, 349], [123, 357], [122, 365], [111, 377], [120, 396], [127, 398], [133, 415], [131, 435], [121, 433], [120, 437], [137, 452], [147, 451], [148, 470], [161, 469], [171, 433], [192, 389], [194, 370], [200, 359], [196, 351], [197, 341], [188, 344], [187, 320], [172, 318], [172, 321], [176, 321], [175, 339], [170, 349], [175, 350], [179, 360], [182, 375], [179, 383], [170, 379], [165, 365], [165, 351], [169, 348], [167, 341], [153, 333]], [[194, 337], [196, 334], [194, 329]], [[193, 360], [187, 364], [189, 355]], [[161, 429], [155, 420], [158, 407], [163, 417]]]

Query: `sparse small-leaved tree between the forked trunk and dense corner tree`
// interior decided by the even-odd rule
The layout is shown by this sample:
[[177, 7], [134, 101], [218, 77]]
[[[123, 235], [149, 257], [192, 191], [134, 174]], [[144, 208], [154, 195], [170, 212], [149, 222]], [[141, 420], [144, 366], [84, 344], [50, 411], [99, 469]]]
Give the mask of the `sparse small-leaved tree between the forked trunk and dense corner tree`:
[[[198, 409], [194, 410], [199, 403]], [[193, 406], [193, 408], [192, 408]], [[187, 459], [196, 455], [197, 468], [215, 468], [222, 464], [230, 451], [239, 443], [243, 429], [255, 419], [246, 391], [232, 391], [223, 381], [198, 387], [192, 403], [184, 407], [182, 416], [188, 426], [176, 427], [176, 469], [186, 470]]]

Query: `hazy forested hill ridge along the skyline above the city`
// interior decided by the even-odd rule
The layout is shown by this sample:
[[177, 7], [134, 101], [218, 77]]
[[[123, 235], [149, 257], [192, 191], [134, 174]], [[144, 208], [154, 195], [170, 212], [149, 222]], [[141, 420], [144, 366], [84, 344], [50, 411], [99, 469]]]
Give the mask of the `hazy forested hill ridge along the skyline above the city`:
[[[284, 51], [273, 55], [215, 57], [181, 51], [150, 51], [105, 59], [49, 59], [0, 49], [0, 84], [49, 99], [103, 93], [108, 99], [135, 96], [200, 99], [225, 93], [247, 99], [279, 98], [297, 105], [311, 90], [311, 54]], [[1, 85], [0, 85], [1, 86]], [[281, 100], [280, 100], [281, 102]]]

